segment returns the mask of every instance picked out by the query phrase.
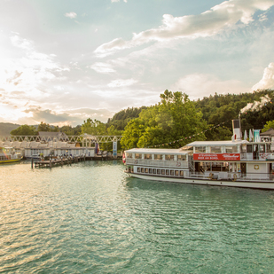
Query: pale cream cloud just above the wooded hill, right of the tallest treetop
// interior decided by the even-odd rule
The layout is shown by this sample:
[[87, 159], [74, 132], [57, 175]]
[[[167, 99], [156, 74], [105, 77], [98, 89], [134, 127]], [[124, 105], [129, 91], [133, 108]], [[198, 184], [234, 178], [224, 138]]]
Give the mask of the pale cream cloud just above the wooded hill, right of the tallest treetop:
[[198, 99], [212, 94], [244, 93], [248, 89], [237, 80], [221, 81], [211, 74], [189, 74], [179, 79], [171, 90], [182, 91], [191, 99]]

